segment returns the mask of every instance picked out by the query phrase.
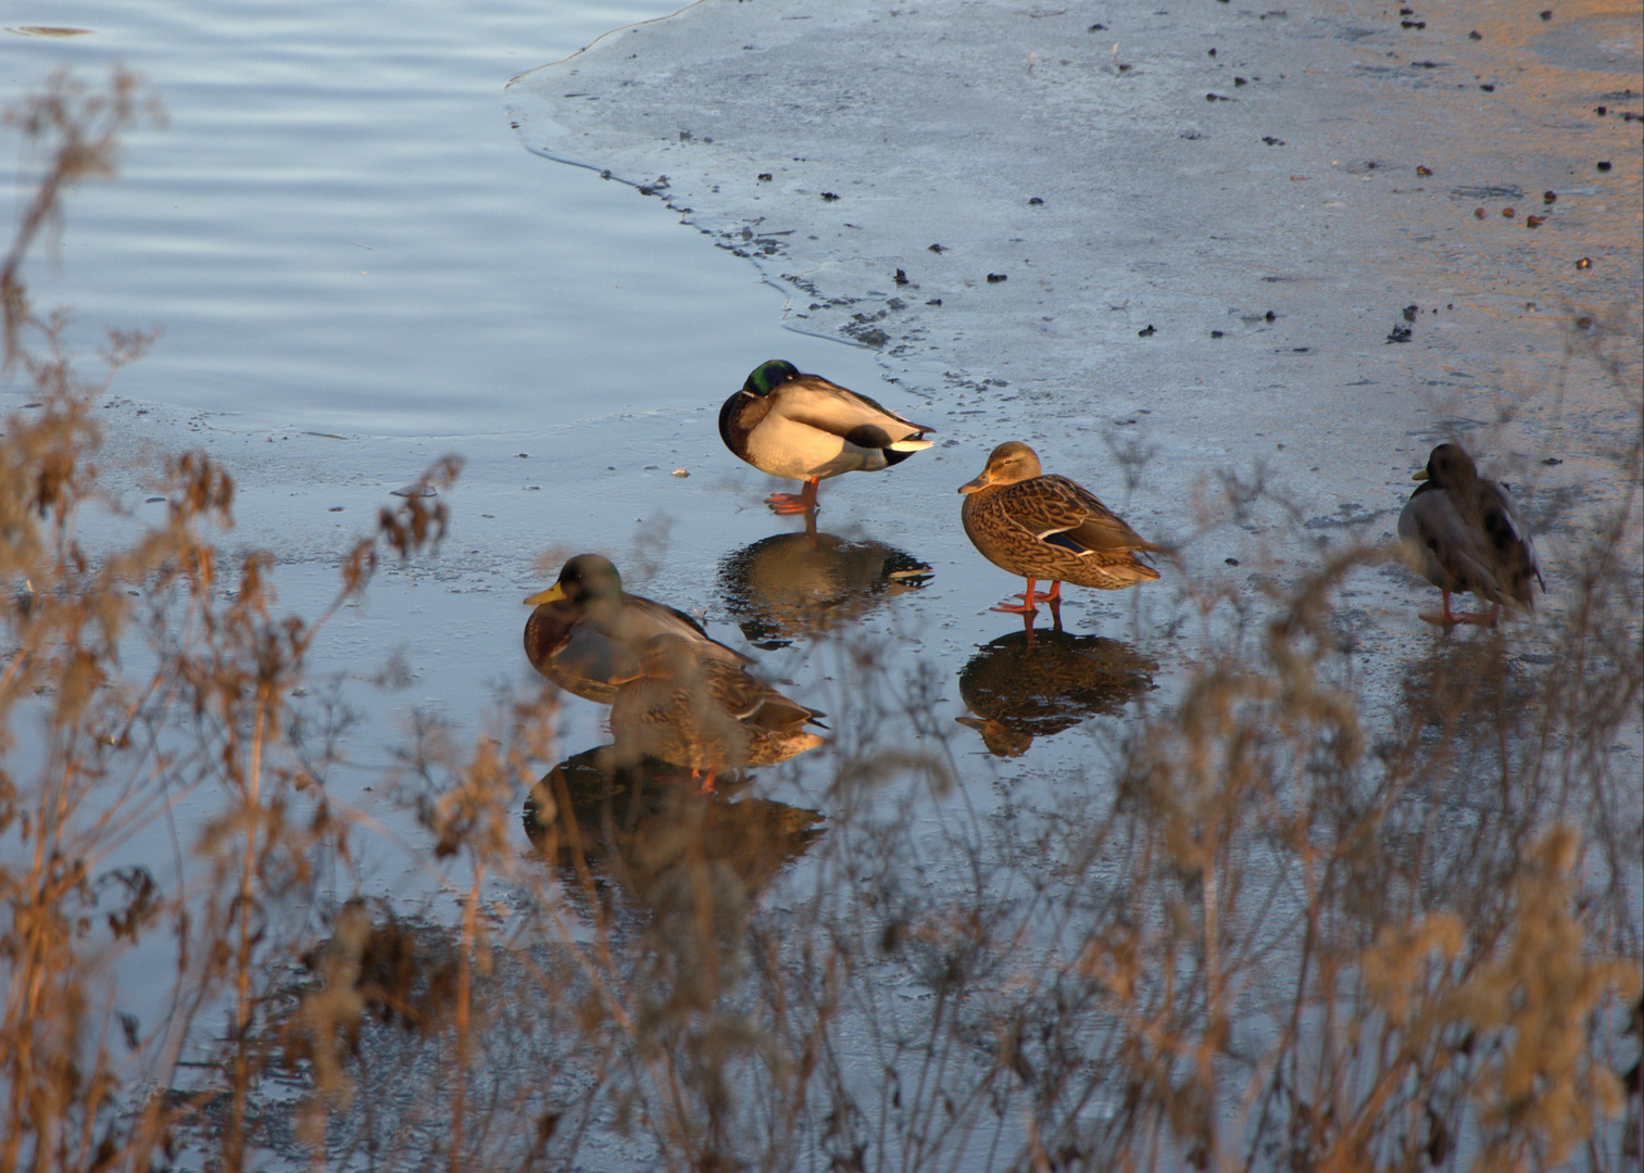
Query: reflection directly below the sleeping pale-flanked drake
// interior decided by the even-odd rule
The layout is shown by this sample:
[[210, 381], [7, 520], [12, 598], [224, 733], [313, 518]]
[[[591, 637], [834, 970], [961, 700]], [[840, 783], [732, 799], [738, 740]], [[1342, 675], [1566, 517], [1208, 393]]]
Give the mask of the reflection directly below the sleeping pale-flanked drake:
[[720, 560], [725, 605], [758, 647], [787, 647], [931, 582], [931, 567], [868, 537], [773, 534]]

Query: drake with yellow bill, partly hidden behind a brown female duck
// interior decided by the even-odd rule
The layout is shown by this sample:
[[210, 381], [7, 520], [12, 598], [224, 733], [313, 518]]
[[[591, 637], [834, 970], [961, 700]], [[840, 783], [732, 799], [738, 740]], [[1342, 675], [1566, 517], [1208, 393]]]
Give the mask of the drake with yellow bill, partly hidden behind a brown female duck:
[[566, 692], [600, 705], [610, 705], [616, 685], [640, 670], [640, 654], [654, 636], [679, 636], [725, 664], [753, 664], [710, 639], [684, 611], [623, 591], [616, 567], [598, 554], [567, 560], [559, 582], [526, 605], [536, 608], [524, 624], [531, 667]]

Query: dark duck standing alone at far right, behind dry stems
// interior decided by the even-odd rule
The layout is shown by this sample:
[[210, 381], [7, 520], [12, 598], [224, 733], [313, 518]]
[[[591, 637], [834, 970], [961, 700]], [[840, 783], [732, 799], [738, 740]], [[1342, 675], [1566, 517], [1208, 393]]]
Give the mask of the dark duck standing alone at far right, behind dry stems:
[[[1478, 475], [1460, 444], [1440, 444], [1412, 480], [1399, 514], [1399, 542], [1411, 568], [1443, 591], [1443, 610], [1427, 623], [1496, 626], [1501, 605], [1532, 611], [1531, 578], [1547, 590], [1535, 545], [1524, 531], [1512, 496], [1503, 485]], [[1452, 614], [1450, 595], [1471, 591], [1494, 606], [1488, 613]]]

